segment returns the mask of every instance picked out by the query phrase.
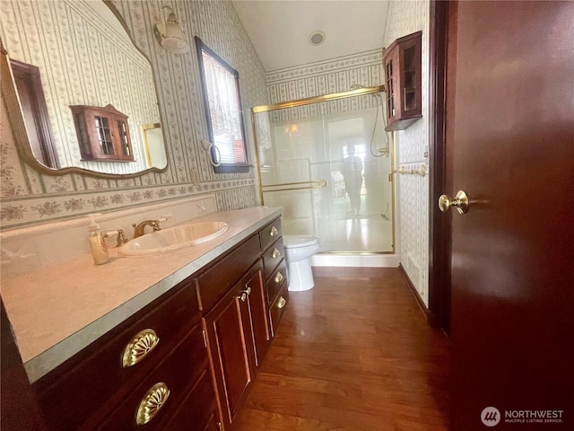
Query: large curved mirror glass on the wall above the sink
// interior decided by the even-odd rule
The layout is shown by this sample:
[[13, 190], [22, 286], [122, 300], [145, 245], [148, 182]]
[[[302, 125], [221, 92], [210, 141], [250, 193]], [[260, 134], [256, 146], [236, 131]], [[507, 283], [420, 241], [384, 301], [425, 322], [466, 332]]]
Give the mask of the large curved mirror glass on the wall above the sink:
[[[18, 150], [35, 169], [101, 177], [167, 169], [152, 66], [113, 4], [3, 1], [0, 26], [3, 95]], [[81, 130], [71, 108], [78, 106], [122, 114], [127, 157], [109, 155], [122, 147], [111, 145], [122, 139], [115, 117], [96, 114]], [[107, 156], [86, 157], [88, 135]]]

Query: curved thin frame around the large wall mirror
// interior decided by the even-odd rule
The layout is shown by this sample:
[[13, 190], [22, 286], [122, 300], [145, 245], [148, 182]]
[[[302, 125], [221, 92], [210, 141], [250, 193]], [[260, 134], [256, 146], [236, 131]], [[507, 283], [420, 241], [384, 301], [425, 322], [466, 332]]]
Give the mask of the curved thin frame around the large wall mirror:
[[[132, 37], [132, 33], [128, 30], [126, 21], [117, 11], [116, 6], [112, 4], [110, 0], [102, 0], [102, 1], [109, 7], [110, 11], [114, 13], [117, 20], [121, 23], [122, 27], [127, 32], [127, 36], [134, 44], [135, 49], [137, 49], [143, 55], [143, 57], [147, 59], [147, 61], [150, 63], [150, 66], [152, 66], [150, 58], [146, 56], [143, 53], [143, 51], [135, 45], [135, 40]], [[166, 154], [166, 165], [163, 168], [152, 167], [134, 173], [107, 173], [107, 172], [92, 171], [89, 169], [80, 168], [78, 166], [68, 166], [65, 168], [54, 169], [54, 168], [48, 168], [48, 166], [39, 163], [39, 161], [36, 159], [31, 150], [30, 138], [28, 136], [28, 132], [26, 131], [26, 126], [22, 115], [22, 108], [20, 105], [20, 99], [18, 96], [18, 92], [16, 90], [16, 85], [12, 73], [12, 67], [10, 66], [10, 57], [8, 56], [8, 51], [4, 48], [4, 41], [1, 38], [0, 38], [0, 51], [2, 54], [1, 56], [2, 58], [0, 59], [0, 86], [2, 89], [2, 95], [4, 96], [4, 100], [6, 102], [7, 116], [10, 122], [10, 127], [12, 128], [13, 132], [14, 145], [16, 146], [16, 150], [20, 155], [20, 157], [22, 158], [22, 160], [28, 165], [30, 165], [32, 169], [42, 174], [54, 175], [54, 176], [79, 174], [79, 175], [89, 175], [91, 177], [96, 178], [105, 178], [110, 180], [135, 178], [151, 172], [156, 173], [166, 172], [168, 170], [168, 168], [170, 167], [170, 154], [168, 152], [168, 145], [165, 139], [165, 133], [163, 128], [161, 128], [161, 134], [163, 135], [163, 146]], [[155, 97], [159, 104], [160, 97], [158, 94], [157, 79], [153, 67], [152, 67], [152, 77], [154, 84], [153, 87], [155, 89]], [[163, 120], [163, 116], [161, 114], [161, 109], [159, 106], [158, 111], [160, 114], [160, 122], [163, 125], [165, 124], [165, 122]]]

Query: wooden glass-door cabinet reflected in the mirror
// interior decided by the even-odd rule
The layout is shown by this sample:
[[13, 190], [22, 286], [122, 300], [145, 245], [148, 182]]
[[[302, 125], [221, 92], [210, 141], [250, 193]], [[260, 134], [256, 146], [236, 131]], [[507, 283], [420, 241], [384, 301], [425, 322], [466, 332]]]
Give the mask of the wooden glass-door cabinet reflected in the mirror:
[[82, 160], [133, 162], [127, 116], [112, 105], [71, 106]]

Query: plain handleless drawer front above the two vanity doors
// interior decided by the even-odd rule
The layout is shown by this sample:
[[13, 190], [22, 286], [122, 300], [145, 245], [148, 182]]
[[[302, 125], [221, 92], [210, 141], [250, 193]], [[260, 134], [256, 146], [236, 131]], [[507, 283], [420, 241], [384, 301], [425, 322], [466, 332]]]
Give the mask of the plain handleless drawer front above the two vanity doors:
[[212, 308], [256, 262], [259, 255], [259, 238], [256, 234], [196, 277], [201, 310], [206, 312]]

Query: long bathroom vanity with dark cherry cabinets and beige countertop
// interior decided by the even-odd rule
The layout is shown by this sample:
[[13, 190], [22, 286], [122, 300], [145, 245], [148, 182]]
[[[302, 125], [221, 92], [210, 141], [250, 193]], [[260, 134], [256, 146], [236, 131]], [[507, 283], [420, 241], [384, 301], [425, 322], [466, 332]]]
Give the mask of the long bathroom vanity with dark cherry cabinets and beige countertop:
[[[91, 265], [83, 272], [100, 279], [87, 282], [80, 270], [78, 289], [121, 288], [130, 273], [135, 284], [150, 281], [30, 361], [24, 355], [48, 429], [230, 430], [289, 300], [280, 216], [265, 207], [213, 213], [203, 219], [230, 229], [211, 243]], [[55, 270], [8, 280], [8, 292], [41, 277], [49, 284]], [[108, 288], [87, 300], [105, 303]], [[63, 326], [66, 307], [56, 311]], [[25, 345], [17, 306], [9, 317]]]

